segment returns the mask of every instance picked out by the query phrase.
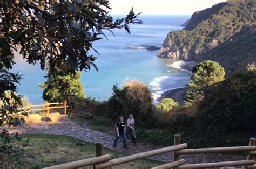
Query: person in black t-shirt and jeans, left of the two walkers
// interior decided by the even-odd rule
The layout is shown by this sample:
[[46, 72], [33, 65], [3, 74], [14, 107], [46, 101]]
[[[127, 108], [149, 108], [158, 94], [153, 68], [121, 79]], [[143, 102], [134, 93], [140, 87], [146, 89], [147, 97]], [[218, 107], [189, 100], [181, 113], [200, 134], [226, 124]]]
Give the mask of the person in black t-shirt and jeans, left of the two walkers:
[[123, 144], [124, 147], [127, 148], [126, 146], [126, 134], [125, 134], [125, 122], [124, 122], [124, 117], [119, 116], [117, 119], [117, 124], [116, 124], [116, 139], [114, 139], [114, 145], [113, 147], [117, 147], [117, 141], [120, 138], [120, 136], [123, 137]]

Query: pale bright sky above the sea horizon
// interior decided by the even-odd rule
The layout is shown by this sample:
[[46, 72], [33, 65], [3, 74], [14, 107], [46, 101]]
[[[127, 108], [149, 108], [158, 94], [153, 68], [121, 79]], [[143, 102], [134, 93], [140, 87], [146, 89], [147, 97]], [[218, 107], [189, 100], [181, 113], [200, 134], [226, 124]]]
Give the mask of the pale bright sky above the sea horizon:
[[109, 0], [110, 13], [127, 14], [133, 7], [134, 12], [143, 15], [192, 15], [195, 11], [210, 8], [225, 0]]

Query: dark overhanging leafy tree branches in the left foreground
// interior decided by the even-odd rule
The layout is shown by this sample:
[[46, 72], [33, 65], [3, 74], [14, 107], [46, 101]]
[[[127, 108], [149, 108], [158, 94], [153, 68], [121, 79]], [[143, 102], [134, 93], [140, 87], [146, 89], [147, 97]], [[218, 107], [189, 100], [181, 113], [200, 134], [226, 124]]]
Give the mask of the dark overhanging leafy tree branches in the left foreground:
[[[55, 67], [65, 75], [86, 71], [91, 66], [97, 69], [96, 57], [89, 51], [95, 50], [94, 41], [105, 36], [103, 30], [125, 29], [130, 33], [129, 24], [142, 23], [133, 10], [126, 18], [113, 21], [106, 11], [110, 9], [109, 1], [100, 0], [0, 1], [0, 98], [4, 103], [0, 108], [0, 125], [17, 125], [19, 121], [12, 116], [21, 105], [19, 96], [14, 95], [21, 76], [10, 72], [15, 64], [14, 51], [29, 64], [39, 62], [41, 69], [49, 62], [49, 73], [53, 76]], [[9, 104], [5, 91], [11, 92], [14, 105]], [[6, 130], [2, 133], [3, 138], [9, 136]], [[6, 140], [9, 139], [4, 139], [1, 147], [11, 148]], [[10, 157], [9, 152], [4, 151], [1, 156]], [[5, 161], [1, 165], [5, 167]]]

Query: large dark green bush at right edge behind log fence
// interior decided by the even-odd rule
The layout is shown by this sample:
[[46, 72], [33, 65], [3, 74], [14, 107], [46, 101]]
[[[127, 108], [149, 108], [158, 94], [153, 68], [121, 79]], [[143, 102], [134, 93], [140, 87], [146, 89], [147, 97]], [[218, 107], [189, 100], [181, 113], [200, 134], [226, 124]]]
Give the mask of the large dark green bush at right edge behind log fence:
[[[245, 144], [256, 136], [256, 74], [234, 73], [206, 93], [196, 115], [199, 133], [212, 145]], [[233, 140], [232, 140], [233, 141]]]

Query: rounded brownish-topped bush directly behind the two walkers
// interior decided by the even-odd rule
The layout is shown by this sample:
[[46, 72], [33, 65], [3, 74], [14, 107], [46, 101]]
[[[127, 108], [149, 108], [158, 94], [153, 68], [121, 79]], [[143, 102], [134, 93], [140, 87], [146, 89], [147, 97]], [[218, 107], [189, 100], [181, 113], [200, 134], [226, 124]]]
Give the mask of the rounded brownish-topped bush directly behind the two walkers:
[[153, 116], [153, 98], [150, 89], [136, 80], [125, 83], [122, 88], [113, 86], [113, 96], [109, 99], [109, 116], [116, 119], [120, 115], [133, 114], [137, 122], [148, 125]]

